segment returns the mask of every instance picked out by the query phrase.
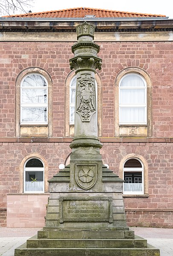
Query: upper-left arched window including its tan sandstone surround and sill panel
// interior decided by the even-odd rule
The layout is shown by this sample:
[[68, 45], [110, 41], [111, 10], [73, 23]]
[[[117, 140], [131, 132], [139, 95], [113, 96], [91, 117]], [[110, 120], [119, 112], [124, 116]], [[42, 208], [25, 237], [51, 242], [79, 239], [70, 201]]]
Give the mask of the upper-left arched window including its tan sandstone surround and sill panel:
[[16, 137], [52, 137], [52, 79], [26, 68], [16, 79]]

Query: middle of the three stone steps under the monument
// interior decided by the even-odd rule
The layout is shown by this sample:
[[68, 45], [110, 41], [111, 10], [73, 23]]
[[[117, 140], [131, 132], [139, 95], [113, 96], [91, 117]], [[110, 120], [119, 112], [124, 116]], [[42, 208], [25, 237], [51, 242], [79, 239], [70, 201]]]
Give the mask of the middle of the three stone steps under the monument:
[[27, 248], [146, 248], [147, 240], [135, 239], [37, 239], [29, 238]]

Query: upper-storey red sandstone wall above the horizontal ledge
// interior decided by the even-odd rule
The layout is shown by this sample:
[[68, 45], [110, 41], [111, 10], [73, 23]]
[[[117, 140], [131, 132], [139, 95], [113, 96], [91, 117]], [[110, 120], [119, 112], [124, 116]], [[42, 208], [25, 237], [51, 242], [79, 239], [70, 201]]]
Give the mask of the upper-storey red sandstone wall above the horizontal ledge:
[[[73, 57], [68, 42], [0, 42], [0, 137], [15, 136], [15, 80], [25, 68], [44, 68], [53, 79], [53, 137], [64, 136], [65, 79]], [[103, 137], [114, 137], [114, 82], [127, 67], [152, 81], [152, 136], [173, 137], [173, 42], [103, 42]]]

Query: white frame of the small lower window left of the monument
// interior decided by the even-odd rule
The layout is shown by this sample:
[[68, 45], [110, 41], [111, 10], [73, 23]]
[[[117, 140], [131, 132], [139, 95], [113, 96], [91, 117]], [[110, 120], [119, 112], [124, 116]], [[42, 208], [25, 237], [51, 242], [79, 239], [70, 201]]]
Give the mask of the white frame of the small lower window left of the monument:
[[[27, 161], [25, 162], [24, 171], [23, 171], [23, 193], [44, 193], [44, 163], [43, 163], [43, 161], [41, 161], [41, 163], [43, 164], [43, 167], [26, 167], [27, 162], [31, 159], [38, 159], [39, 161], [41, 161], [40, 158], [32, 157], [32, 158], [27, 159]], [[26, 172], [43, 172], [43, 190], [42, 191], [26, 191], [26, 189], [25, 189]]]

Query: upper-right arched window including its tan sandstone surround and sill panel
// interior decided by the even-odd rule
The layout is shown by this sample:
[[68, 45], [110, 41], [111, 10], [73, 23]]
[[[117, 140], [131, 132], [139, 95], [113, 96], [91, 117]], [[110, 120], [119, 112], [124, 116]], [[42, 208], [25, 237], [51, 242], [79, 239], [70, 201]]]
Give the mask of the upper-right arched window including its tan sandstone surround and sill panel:
[[115, 136], [152, 137], [152, 83], [141, 68], [125, 68], [117, 75]]

